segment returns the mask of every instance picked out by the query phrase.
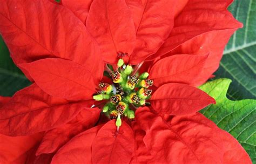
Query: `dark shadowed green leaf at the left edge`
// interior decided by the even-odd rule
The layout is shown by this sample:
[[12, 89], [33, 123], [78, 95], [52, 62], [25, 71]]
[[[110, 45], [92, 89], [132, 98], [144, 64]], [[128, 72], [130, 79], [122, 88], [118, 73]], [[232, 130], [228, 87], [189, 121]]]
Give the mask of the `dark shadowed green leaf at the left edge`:
[[0, 95], [11, 96], [30, 84], [30, 81], [15, 66], [0, 36]]

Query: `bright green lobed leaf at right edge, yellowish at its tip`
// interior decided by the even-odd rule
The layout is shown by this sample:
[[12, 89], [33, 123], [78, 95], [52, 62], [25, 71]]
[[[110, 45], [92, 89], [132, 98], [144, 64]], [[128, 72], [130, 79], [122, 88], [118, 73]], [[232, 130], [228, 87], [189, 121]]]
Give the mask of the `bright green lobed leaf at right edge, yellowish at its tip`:
[[256, 163], [256, 100], [232, 101], [226, 97], [230, 79], [218, 79], [207, 82], [199, 88], [215, 100], [200, 112], [232, 134]]

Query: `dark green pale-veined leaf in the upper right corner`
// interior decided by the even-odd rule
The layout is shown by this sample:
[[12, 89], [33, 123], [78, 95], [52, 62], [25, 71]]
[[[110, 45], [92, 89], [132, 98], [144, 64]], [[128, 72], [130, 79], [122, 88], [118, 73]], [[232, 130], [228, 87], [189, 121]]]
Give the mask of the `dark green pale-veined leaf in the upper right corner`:
[[228, 8], [244, 24], [224, 51], [216, 78], [230, 78], [227, 96], [232, 100], [256, 98], [256, 1], [234, 1]]

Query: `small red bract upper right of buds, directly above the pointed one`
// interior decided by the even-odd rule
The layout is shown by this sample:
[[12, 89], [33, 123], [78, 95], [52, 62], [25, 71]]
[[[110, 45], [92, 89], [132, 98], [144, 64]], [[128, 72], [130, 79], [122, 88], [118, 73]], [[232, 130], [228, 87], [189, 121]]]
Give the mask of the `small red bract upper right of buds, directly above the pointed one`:
[[149, 78], [154, 80], [157, 87], [167, 83], [193, 84], [203, 70], [207, 57], [178, 54], [163, 58], [151, 67]]

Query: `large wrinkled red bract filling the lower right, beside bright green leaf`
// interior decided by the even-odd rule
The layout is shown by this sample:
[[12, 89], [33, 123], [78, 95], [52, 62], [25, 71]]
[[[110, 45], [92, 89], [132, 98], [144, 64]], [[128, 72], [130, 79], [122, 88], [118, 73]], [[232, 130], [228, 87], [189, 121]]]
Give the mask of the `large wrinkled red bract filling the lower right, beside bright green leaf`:
[[133, 160], [145, 144], [149, 163], [251, 163], [237, 140], [200, 113], [163, 117], [147, 107], [136, 112], [134, 126], [138, 124], [145, 133], [140, 134], [144, 142], [138, 142]]

